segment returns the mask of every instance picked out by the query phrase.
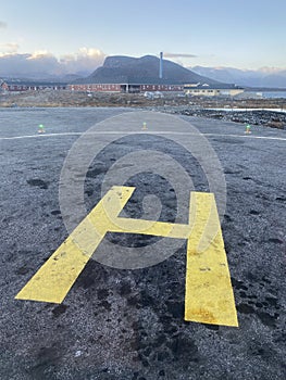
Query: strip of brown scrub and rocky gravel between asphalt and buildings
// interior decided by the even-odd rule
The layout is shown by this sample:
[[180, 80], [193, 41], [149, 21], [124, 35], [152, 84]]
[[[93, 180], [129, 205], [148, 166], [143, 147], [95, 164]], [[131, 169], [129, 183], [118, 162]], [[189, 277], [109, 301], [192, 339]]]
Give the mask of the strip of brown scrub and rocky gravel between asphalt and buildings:
[[[73, 92], [73, 91], [25, 91], [21, 93], [0, 93], [2, 107], [58, 107], [58, 106], [125, 106], [157, 110], [171, 114], [208, 117], [226, 122], [263, 125], [272, 128], [286, 127], [286, 99], [248, 99], [236, 100], [227, 98], [187, 98], [178, 94], [165, 93], [163, 98], [147, 99], [144, 94]], [[225, 111], [210, 109], [226, 107]], [[235, 109], [276, 109], [270, 111], [236, 112]]]

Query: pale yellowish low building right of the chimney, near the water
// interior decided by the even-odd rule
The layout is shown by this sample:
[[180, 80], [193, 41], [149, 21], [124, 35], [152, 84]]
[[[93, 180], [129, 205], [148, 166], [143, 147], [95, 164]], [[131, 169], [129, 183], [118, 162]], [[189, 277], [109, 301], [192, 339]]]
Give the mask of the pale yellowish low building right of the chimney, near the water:
[[245, 89], [235, 85], [208, 85], [200, 83], [184, 85], [184, 91], [188, 96], [194, 97], [235, 97], [243, 93]]

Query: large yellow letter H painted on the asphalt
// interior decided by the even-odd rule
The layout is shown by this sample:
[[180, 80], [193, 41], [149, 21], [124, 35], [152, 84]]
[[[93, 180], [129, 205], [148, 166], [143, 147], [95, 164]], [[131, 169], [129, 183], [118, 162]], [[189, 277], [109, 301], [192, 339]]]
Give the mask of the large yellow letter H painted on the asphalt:
[[187, 239], [185, 319], [238, 326], [215, 200], [191, 192], [189, 224], [119, 217], [135, 188], [113, 187], [16, 295], [61, 303], [107, 232]]

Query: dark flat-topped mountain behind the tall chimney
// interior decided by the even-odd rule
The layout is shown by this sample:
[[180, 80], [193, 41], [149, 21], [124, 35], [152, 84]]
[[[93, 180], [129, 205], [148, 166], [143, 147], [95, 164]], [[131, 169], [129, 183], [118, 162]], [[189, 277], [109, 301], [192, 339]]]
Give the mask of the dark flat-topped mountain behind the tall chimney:
[[159, 78], [160, 60], [153, 55], [132, 58], [123, 55], [108, 56], [103, 66], [77, 84], [217, 84], [216, 80], [198, 75], [177, 63], [163, 60], [163, 76]]

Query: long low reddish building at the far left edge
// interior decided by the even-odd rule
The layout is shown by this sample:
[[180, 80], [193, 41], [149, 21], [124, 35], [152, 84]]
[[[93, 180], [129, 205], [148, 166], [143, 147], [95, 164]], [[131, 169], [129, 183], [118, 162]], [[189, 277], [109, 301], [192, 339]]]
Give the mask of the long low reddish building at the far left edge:
[[5, 91], [37, 91], [37, 90], [65, 90], [66, 84], [54, 81], [24, 81], [24, 80], [1, 80], [0, 87]]

